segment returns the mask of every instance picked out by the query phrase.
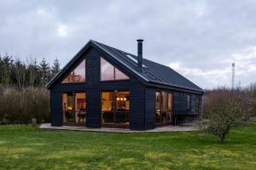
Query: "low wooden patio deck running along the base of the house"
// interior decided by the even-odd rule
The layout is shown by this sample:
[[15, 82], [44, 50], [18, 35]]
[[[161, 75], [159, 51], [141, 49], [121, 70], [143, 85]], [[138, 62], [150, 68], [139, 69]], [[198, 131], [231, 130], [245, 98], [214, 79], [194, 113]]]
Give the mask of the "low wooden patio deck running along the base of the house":
[[196, 131], [198, 127], [195, 125], [186, 125], [186, 126], [165, 126], [165, 127], [156, 127], [151, 130], [137, 131], [130, 130], [129, 128], [89, 128], [89, 127], [73, 127], [73, 126], [62, 126], [62, 127], [53, 127], [50, 123], [43, 123], [39, 127], [40, 129], [48, 130], [71, 130], [71, 131], [87, 131], [87, 132], [103, 132], [103, 133], [163, 133], [163, 132], [184, 132], [184, 131]]

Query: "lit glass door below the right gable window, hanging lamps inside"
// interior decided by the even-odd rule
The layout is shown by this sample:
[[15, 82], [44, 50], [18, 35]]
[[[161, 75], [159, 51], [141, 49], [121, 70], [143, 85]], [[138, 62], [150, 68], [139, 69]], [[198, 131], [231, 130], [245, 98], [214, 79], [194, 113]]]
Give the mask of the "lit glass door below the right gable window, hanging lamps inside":
[[129, 125], [130, 92], [102, 92], [102, 124]]

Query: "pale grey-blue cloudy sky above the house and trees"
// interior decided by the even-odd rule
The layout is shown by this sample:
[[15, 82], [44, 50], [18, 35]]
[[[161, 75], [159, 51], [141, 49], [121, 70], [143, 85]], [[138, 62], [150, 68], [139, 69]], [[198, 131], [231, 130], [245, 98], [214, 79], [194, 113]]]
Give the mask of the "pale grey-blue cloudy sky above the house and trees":
[[0, 1], [0, 54], [61, 66], [90, 39], [143, 56], [201, 88], [256, 82], [255, 0]]

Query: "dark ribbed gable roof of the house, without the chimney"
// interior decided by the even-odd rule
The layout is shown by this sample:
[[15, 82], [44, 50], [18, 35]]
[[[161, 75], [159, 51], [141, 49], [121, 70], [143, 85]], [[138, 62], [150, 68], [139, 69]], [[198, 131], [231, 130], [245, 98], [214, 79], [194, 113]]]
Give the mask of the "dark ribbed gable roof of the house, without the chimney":
[[82, 48], [79, 53], [76, 54], [73, 59], [71, 59], [67, 65], [65, 65], [63, 69], [47, 83], [46, 87], [50, 88], [51, 85], [54, 84], [54, 82], [56, 82], [57, 79], [59, 79], [59, 77], [61, 77], [61, 75], [64, 74], [77, 59], [79, 59], [79, 56], [90, 47], [96, 48], [104, 54], [108, 54], [111, 58], [119, 62], [120, 65], [124, 65], [125, 68], [137, 75], [139, 79], [150, 83], [152, 86], [164, 85], [166, 87], [182, 88], [204, 93], [204, 90], [196, 86], [195, 83], [190, 82], [187, 78], [183, 77], [177, 73], [177, 71], [172, 70], [172, 68], [166, 65], [160, 65], [154, 61], [143, 58], [143, 71], [138, 71], [137, 55], [127, 53], [117, 48], [112, 48], [93, 40], [87, 42], [84, 48]]

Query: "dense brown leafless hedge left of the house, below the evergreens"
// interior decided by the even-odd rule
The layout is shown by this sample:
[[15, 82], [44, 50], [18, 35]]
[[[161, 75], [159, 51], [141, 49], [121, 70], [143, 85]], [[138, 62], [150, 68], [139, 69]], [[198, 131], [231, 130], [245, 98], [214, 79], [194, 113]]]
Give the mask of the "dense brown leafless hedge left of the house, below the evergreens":
[[0, 88], [0, 123], [49, 122], [49, 92], [45, 88]]

